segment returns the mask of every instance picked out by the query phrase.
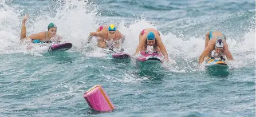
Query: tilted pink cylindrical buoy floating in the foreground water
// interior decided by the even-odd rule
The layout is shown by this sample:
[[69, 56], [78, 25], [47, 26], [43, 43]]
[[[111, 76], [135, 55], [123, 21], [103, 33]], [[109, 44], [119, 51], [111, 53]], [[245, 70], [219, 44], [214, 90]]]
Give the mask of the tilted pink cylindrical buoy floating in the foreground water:
[[112, 111], [115, 106], [102, 86], [96, 85], [84, 93], [84, 99], [90, 108], [96, 111]]

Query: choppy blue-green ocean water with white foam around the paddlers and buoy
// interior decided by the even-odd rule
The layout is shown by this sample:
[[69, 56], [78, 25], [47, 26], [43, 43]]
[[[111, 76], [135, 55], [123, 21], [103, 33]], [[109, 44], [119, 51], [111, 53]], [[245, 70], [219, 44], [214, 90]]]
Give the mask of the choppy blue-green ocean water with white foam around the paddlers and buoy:
[[[68, 51], [19, 41], [56, 23]], [[139, 33], [160, 31], [170, 62], [109, 59], [86, 37], [115, 23], [135, 53]], [[227, 72], [198, 67], [207, 31], [227, 36], [234, 61]], [[255, 116], [255, 1], [1, 0], [0, 116]], [[84, 92], [101, 84], [116, 110], [89, 108]]]

